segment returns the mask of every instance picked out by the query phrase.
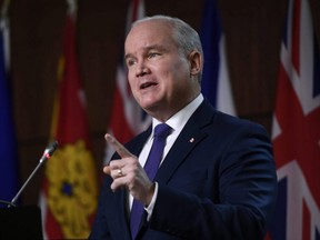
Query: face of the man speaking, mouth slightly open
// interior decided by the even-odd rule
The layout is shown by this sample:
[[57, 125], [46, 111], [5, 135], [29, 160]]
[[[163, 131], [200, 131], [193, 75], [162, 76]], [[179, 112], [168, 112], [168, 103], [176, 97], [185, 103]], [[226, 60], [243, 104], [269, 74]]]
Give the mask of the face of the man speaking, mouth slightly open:
[[179, 52], [168, 23], [139, 23], [129, 32], [124, 49], [132, 94], [152, 117], [166, 121], [200, 91], [190, 78], [190, 60]]

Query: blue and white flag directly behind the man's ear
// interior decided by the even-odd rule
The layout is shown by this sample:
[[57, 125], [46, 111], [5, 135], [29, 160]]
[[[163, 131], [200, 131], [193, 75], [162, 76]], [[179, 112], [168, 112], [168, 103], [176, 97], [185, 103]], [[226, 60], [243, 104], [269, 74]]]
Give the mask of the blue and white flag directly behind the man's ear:
[[216, 0], [204, 2], [200, 39], [204, 56], [202, 93], [218, 110], [236, 114], [228, 72], [226, 38]]

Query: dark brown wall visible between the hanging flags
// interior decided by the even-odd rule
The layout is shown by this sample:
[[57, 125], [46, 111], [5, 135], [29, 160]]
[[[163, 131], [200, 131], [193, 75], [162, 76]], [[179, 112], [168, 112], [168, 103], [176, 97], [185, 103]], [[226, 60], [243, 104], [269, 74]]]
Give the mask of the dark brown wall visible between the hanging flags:
[[[288, 0], [217, 1], [238, 116], [270, 132]], [[310, 4], [319, 40], [320, 1], [310, 0]], [[79, 0], [77, 50], [99, 173], [128, 6], [129, 0]], [[202, 8], [203, 0], [146, 0], [147, 16], [174, 16], [197, 30]], [[64, 0], [11, 0], [11, 80], [21, 182], [48, 143], [66, 12]], [[23, 204], [37, 204], [42, 172], [22, 194]]]

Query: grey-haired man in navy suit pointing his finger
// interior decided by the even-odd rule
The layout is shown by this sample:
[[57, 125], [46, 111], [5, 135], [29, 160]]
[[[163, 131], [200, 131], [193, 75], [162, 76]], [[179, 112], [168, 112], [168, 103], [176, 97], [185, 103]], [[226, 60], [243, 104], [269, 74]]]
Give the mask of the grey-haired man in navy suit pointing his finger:
[[[146, 18], [133, 24], [124, 50], [131, 91], [152, 127], [126, 148], [106, 134], [118, 154], [103, 168], [90, 238], [263, 239], [277, 192], [271, 143], [262, 127], [203, 99], [198, 33], [176, 18]], [[153, 179], [147, 158], [160, 123], [170, 130]], [[144, 210], [133, 229], [139, 203]]]

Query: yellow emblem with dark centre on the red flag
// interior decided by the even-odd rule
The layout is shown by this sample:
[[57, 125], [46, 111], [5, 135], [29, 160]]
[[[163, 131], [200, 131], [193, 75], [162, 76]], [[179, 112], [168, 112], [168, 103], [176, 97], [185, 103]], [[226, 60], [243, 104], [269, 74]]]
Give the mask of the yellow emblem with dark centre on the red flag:
[[67, 239], [88, 238], [89, 216], [97, 209], [91, 152], [82, 140], [66, 144], [48, 161], [48, 204]]

